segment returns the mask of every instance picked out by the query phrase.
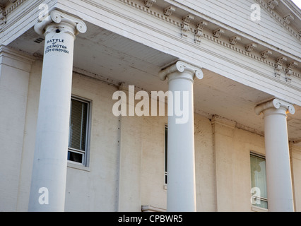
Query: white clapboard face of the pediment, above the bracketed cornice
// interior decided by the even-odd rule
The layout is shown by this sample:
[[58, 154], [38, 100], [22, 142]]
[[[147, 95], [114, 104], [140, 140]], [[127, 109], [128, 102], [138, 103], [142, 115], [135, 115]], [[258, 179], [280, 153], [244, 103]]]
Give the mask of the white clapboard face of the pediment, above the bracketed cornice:
[[225, 30], [301, 57], [301, 13], [290, 0], [176, 1]]

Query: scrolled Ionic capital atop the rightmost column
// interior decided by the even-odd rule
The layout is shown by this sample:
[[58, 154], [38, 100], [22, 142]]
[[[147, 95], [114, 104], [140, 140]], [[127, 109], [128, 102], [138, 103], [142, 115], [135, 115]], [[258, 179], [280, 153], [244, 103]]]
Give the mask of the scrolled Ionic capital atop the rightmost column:
[[255, 113], [259, 115], [261, 114], [261, 112], [264, 112], [266, 109], [271, 109], [271, 108], [274, 109], [283, 108], [285, 109], [286, 113], [290, 112], [290, 114], [295, 114], [295, 107], [292, 104], [279, 99], [274, 99], [269, 102], [265, 102], [260, 105], [257, 105], [254, 110]]

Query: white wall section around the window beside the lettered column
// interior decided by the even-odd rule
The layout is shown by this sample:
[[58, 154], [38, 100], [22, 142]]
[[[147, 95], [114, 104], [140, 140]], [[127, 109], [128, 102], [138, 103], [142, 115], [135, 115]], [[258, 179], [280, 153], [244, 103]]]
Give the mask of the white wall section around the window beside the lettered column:
[[112, 114], [112, 93], [116, 90], [95, 79], [73, 74], [72, 94], [92, 101], [90, 161], [89, 171], [68, 167], [66, 211], [117, 210], [119, 121]]

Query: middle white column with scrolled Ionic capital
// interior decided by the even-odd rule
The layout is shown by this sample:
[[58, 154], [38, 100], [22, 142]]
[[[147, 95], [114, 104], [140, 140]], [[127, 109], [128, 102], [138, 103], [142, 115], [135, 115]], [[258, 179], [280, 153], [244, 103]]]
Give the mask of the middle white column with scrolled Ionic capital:
[[[168, 78], [167, 211], [196, 211], [194, 164], [194, 77], [201, 69], [182, 61], [160, 72]], [[179, 111], [181, 109], [181, 111]]]

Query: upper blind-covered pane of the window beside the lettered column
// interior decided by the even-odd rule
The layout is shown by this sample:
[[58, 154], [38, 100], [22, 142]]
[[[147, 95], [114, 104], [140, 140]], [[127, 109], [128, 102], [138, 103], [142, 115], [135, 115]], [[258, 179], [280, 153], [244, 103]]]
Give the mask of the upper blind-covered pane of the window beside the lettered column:
[[85, 150], [85, 136], [87, 130], [88, 104], [78, 100], [71, 100], [69, 147]]

